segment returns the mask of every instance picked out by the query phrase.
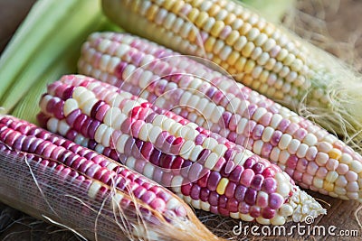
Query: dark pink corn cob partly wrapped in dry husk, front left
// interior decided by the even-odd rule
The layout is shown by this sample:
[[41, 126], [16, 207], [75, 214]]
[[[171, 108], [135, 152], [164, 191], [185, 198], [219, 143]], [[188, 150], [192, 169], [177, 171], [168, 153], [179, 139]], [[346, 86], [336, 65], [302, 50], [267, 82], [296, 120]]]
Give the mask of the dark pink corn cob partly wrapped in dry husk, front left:
[[0, 118], [0, 152], [1, 200], [37, 218], [91, 239], [219, 240], [157, 183], [23, 120]]

